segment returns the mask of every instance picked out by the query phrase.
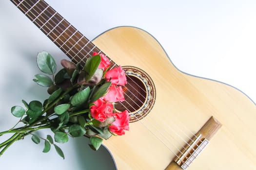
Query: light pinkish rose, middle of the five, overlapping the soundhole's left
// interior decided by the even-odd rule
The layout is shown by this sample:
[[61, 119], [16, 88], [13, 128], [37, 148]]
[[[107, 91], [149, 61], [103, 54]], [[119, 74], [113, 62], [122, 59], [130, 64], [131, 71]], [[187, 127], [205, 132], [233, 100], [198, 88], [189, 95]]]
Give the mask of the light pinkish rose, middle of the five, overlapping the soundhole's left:
[[111, 85], [108, 88], [108, 93], [103, 97], [103, 100], [107, 102], [123, 102], [124, 95], [122, 87], [117, 85]]

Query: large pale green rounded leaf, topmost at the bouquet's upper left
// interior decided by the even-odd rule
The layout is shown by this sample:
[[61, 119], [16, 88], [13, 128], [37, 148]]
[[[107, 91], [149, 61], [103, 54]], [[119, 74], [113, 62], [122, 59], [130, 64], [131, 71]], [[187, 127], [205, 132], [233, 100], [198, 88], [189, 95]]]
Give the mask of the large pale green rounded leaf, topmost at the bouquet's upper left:
[[57, 70], [57, 65], [54, 58], [46, 51], [38, 53], [37, 63], [39, 69], [47, 74], [54, 74]]

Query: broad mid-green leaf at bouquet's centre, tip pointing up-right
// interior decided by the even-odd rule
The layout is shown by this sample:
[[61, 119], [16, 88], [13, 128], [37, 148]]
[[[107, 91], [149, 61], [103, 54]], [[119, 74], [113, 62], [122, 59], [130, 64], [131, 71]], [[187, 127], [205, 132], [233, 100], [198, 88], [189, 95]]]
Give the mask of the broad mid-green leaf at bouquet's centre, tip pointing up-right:
[[72, 97], [70, 102], [74, 106], [79, 106], [88, 100], [89, 94], [90, 94], [90, 87], [86, 87], [82, 91], [79, 91], [78, 93], [76, 93]]

